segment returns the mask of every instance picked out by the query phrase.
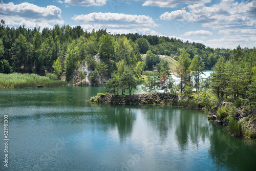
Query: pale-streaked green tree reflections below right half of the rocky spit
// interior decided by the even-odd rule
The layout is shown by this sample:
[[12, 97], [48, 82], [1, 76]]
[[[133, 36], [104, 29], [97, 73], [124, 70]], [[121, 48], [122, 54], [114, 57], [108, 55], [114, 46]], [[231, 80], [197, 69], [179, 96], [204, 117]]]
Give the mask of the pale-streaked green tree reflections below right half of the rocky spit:
[[[202, 111], [172, 106], [144, 106], [143, 115], [159, 132], [162, 143], [175, 138], [180, 151], [198, 148], [210, 135], [210, 125]], [[173, 141], [173, 140], [172, 140]], [[166, 142], [168, 143], [168, 142]]]

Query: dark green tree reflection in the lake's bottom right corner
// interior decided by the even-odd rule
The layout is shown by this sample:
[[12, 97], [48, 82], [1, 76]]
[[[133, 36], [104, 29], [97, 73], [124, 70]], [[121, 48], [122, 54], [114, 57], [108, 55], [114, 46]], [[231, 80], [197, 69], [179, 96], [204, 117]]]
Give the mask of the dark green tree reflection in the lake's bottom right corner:
[[208, 153], [216, 167], [224, 165], [230, 170], [254, 170], [256, 140], [232, 137], [222, 126], [213, 128]]

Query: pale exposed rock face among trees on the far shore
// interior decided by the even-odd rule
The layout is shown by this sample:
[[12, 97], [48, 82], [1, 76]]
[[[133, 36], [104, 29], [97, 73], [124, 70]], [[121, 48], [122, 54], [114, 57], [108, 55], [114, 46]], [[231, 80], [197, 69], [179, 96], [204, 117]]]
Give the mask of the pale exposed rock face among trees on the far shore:
[[[95, 61], [97, 61], [98, 63], [100, 62], [99, 52], [93, 57], [94, 57]], [[76, 86], [78, 86], [81, 82], [83, 82], [84, 86], [86, 86], [86, 85], [87, 86], [96, 86], [96, 85], [92, 84], [92, 81], [90, 80], [90, 75], [92, 74], [93, 71], [88, 68], [88, 63], [89, 63], [88, 61], [85, 61], [83, 63], [83, 65], [78, 70], [74, 70], [73, 78], [74, 78], [74, 84]], [[84, 74], [86, 75], [86, 77], [83, 80], [81, 80], [78, 77], [78, 74], [80, 72], [84, 72]], [[97, 78], [97, 82], [98, 82], [97, 86], [104, 86], [105, 81], [106, 81], [105, 77], [99, 76], [99, 78]]]

